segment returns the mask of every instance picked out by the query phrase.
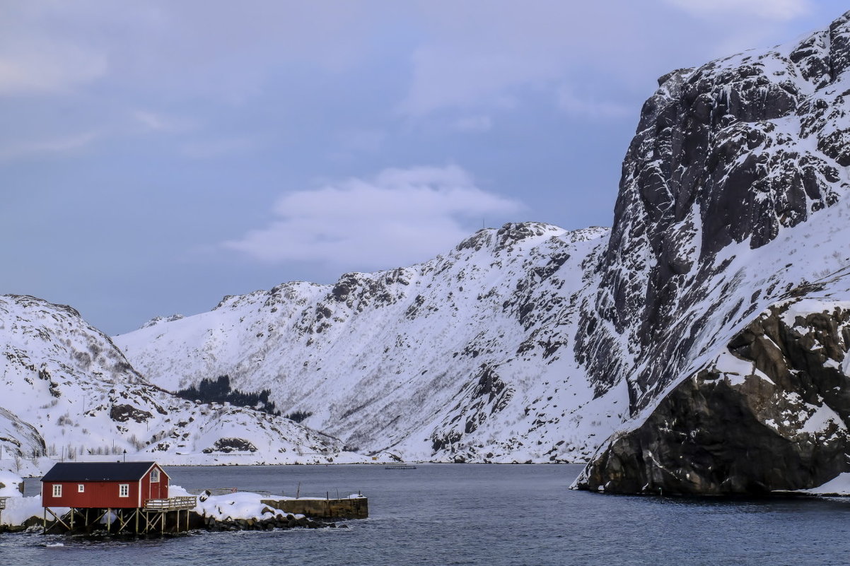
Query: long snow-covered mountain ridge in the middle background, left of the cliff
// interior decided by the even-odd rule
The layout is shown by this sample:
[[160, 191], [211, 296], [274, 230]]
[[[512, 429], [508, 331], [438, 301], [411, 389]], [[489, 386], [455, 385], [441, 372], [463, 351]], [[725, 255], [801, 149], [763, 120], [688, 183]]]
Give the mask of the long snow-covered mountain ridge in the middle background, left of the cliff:
[[581, 461], [621, 422], [573, 351], [608, 230], [483, 229], [407, 269], [224, 297], [114, 340], [171, 391], [229, 376], [350, 449], [433, 461]]

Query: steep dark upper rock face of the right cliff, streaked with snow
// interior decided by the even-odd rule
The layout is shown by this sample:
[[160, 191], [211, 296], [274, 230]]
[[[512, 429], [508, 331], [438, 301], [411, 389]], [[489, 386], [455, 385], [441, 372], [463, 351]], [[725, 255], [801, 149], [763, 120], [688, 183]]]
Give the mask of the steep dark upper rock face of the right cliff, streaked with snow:
[[773, 280], [749, 286], [758, 297], [728, 300], [731, 250], [762, 248], [847, 192], [848, 19], [800, 43], [674, 71], [643, 105], [577, 337], [600, 392], [627, 376], [633, 412], [700, 354], [697, 329], [740, 322], [808, 275], [776, 263]]

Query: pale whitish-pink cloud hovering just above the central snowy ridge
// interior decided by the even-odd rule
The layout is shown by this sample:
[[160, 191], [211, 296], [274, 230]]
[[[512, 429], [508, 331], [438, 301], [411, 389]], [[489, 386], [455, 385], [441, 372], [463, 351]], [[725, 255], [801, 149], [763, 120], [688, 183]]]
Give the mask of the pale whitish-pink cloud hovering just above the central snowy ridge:
[[519, 201], [480, 190], [460, 167], [385, 169], [284, 195], [274, 222], [222, 246], [266, 263], [388, 269], [445, 252], [482, 217], [521, 209]]

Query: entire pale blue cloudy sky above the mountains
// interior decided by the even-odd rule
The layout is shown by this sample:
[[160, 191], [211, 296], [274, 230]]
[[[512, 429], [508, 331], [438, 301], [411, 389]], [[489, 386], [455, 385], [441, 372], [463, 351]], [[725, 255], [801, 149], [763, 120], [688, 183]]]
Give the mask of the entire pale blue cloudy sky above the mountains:
[[832, 0], [0, 0], [0, 293], [108, 334], [610, 225], [656, 79]]

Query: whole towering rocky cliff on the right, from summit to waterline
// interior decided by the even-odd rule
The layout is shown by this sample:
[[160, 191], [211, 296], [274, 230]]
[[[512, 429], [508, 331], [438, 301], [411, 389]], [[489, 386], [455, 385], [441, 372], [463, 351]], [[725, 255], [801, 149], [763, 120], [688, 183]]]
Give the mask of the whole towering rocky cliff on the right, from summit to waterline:
[[[599, 391], [626, 376], [634, 420], [580, 487], [745, 493], [847, 470], [848, 20], [675, 71], [644, 105], [579, 337]], [[808, 284], [828, 274], [836, 303]], [[790, 296], [809, 308], [792, 322]]]

